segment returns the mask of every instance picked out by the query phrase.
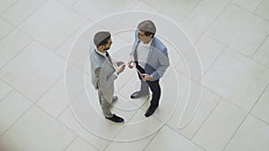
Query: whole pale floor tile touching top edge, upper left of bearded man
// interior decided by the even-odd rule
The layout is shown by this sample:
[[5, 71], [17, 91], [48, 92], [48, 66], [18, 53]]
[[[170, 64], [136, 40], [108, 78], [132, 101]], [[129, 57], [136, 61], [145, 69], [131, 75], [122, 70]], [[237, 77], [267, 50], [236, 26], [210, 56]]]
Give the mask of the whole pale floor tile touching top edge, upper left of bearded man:
[[51, 50], [56, 50], [66, 38], [85, 22], [78, 13], [56, 1], [49, 1], [23, 21], [20, 29]]

